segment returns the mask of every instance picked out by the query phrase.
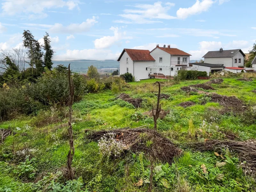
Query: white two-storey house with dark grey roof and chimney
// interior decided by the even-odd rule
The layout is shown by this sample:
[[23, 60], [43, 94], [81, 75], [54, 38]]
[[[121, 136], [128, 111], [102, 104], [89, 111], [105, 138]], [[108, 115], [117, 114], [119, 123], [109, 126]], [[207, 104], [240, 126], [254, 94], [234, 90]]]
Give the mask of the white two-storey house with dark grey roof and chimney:
[[223, 64], [225, 67], [244, 67], [244, 52], [241, 49], [209, 51], [203, 58], [205, 63]]

